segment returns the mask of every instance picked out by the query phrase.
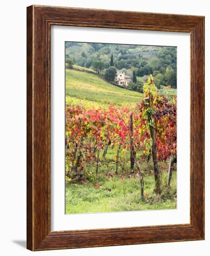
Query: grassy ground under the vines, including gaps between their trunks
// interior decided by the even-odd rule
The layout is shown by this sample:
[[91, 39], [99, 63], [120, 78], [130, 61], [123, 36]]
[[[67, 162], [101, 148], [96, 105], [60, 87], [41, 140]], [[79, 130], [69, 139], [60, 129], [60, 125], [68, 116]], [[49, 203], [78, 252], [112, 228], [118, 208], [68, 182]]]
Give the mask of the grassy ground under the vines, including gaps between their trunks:
[[[85, 184], [66, 183], [66, 213], [95, 213], [154, 209], [176, 209], [177, 172], [173, 171], [170, 189], [165, 186], [168, 162], [159, 164], [161, 175], [161, 195], [153, 193], [155, 188], [152, 161], [144, 161], [141, 170], [144, 173], [145, 202], [140, 200], [140, 180], [130, 171], [129, 150], [121, 152], [121, 164], [115, 175], [115, 149], [108, 148], [105, 158], [100, 157], [99, 172], [95, 174], [95, 165], [85, 168]], [[138, 155], [137, 155], [138, 157]], [[123, 169], [122, 169], [123, 166]], [[176, 170], [176, 164], [174, 165]], [[95, 186], [95, 184], [101, 187]]]

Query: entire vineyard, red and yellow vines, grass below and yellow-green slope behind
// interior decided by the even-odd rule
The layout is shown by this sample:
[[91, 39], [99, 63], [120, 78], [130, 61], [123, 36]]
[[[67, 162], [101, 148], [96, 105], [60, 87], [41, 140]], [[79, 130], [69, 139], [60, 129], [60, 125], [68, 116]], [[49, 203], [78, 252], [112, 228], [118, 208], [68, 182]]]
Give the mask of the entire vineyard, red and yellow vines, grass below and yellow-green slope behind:
[[[82, 72], [70, 72], [67, 78], [81, 80]], [[80, 90], [72, 81], [66, 87], [66, 213], [176, 208], [176, 95], [159, 94], [152, 76], [144, 95], [98, 81], [102, 97], [91, 77]], [[127, 105], [120, 103], [124, 97]]]

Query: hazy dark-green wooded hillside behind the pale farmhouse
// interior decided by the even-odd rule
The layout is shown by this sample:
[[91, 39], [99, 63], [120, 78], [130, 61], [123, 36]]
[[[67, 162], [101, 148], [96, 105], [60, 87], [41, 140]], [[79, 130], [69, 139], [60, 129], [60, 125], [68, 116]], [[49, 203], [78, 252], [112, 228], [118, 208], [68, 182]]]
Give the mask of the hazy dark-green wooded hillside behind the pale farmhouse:
[[[98, 74], [110, 77], [109, 67], [133, 76], [134, 90], [152, 74], [156, 86], [177, 88], [176, 47], [135, 46], [101, 43], [66, 42], [66, 60], [75, 65], [93, 68]], [[66, 61], [66, 63], [67, 63]], [[70, 67], [70, 63], [68, 67]], [[111, 75], [112, 76], [112, 75]]]

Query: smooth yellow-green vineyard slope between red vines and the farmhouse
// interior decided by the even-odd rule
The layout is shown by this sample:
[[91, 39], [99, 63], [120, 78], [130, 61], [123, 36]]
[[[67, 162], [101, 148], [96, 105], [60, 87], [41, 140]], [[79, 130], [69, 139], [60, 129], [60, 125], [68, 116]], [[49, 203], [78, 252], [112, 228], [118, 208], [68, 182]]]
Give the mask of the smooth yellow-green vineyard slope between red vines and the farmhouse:
[[66, 69], [66, 103], [83, 104], [86, 108], [107, 108], [113, 103], [132, 108], [142, 97], [143, 94], [119, 88], [97, 74]]

